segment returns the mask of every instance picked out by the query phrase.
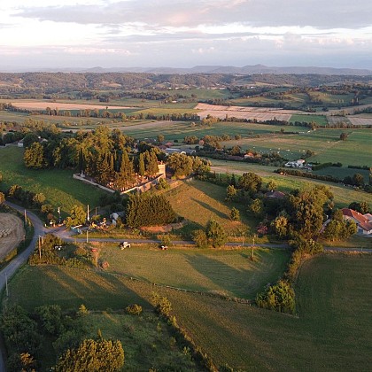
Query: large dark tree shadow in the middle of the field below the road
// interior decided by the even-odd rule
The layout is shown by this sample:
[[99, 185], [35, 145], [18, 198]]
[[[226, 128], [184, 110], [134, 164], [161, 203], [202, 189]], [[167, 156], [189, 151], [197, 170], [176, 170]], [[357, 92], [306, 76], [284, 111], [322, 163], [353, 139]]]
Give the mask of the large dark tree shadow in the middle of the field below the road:
[[238, 298], [254, 296], [255, 291], [253, 291], [253, 294], [247, 291], [249, 288], [247, 281], [249, 276], [252, 275], [251, 270], [230, 267], [220, 260], [214, 260], [205, 255], [190, 255], [187, 256], [186, 260], [201, 275], [215, 284], [216, 288], [210, 291]]

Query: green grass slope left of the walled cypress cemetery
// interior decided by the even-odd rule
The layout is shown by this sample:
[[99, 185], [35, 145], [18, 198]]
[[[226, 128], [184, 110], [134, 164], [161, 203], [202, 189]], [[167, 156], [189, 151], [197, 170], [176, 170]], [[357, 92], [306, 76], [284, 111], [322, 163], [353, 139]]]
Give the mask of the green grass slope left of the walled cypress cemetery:
[[8, 146], [0, 149], [0, 172], [3, 174], [1, 190], [13, 184], [25, 190], [42, 192], [55, 208], [60, 206], [62, 213], [70, 213], [73, 205], [99, 205], [98, 199], [104, 193], [93, 186], [73, 179], [73, 171], [62, 169], [28, 169], [23, 164], [23, 149]]

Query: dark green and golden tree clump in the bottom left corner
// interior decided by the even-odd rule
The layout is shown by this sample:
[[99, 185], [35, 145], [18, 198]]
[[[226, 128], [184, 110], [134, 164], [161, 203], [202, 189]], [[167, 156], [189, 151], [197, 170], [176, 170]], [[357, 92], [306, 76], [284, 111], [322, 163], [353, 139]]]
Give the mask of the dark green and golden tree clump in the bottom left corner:
[[20, 306], [4, 307], [0, 329], [9, 354], [7, 370], [39, 370], [38, 357], [43, 353], [42, 337], [48, 337], [57, 356], [53, 370], [119, 371], [124, 364], [120, 341], [84, 338], [88, 327], [85, 306], [76, 313], [65, 314], [58, 305], [36, 307], [33, 314]]

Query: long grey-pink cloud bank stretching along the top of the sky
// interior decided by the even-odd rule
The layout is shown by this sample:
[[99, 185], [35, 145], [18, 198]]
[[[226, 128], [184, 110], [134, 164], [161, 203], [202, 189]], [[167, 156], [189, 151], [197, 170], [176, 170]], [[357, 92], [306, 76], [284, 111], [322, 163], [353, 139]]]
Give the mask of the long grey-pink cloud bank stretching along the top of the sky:
[[337, 0], [337, 4], [323, 0], [128, 0], [105, 4], [24, 7], [19, 9], [17, 15], [97, 25], [142, 22], [153, 27], [197, 27], [202, 24], [242, 22], [255, 27], [360, 28], [371, 25], [371, 13], [372, 3], [367, 0], [360, 0], [358, 6], [348, 0]]

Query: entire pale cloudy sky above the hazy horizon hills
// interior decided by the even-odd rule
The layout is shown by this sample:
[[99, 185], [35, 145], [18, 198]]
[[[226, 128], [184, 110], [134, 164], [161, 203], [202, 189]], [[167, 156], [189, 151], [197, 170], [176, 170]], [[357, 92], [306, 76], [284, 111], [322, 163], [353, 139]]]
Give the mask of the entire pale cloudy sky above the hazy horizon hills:
[[0, 3], [0, 71], [256, 64], [372, 70], [372, 2]]

